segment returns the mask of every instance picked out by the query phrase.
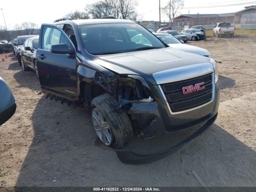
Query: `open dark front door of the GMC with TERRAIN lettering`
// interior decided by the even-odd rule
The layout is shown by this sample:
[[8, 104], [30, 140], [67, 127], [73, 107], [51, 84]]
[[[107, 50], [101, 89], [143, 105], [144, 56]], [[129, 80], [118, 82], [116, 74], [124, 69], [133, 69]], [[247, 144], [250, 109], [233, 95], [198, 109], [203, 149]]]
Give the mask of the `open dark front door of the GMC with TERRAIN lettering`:
[[42, 24], [39, 46], [36, 51], [36, 64], [42, 89], [68, 100], [78, 98], [76, 55], [55, 54], [50, 51], [52, 45], [74, 44], [66, 33], [53, 24]]

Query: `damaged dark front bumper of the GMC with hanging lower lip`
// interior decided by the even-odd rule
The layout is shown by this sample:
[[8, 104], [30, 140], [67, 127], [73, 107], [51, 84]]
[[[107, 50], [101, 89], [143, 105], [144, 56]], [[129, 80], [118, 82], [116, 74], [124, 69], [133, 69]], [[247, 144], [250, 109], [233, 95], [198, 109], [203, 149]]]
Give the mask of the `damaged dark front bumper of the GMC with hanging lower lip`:
[[[202, 134], [216, 120], [220, 102], [220, 82], [215, 84], [213, 102], [200, 109], [183, 114], [164, 114], [167, 109], [163, 109], [160, 101], [160, 99], [156, 99], [151, 102], [132, 103], [128, 114], [132, 122], [140, 124], [140, 137], [134, 138], [128, 146], [116, 150], [116, 154], [122, 162], [142, 164], [164, 158]], [[188, 134], [192, 129], [195, 131]], [[186, 137], [172, 144], [163, 139], [168, 135], [165, 140], [175, 140], [179, 133]]]

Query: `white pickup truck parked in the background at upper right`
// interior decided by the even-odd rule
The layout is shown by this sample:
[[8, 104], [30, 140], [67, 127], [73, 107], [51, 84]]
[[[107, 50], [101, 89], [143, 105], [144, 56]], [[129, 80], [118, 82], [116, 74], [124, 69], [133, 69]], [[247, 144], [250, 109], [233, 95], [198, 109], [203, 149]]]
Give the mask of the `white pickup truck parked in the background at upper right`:
[[235, 30], [236, 27], [231, 26], [230, 22], [217, 23], [214, 26], [213, 35], [218, 38], [220, 35], [230, 34], [230, 36], [232, 37], [235, 34]]

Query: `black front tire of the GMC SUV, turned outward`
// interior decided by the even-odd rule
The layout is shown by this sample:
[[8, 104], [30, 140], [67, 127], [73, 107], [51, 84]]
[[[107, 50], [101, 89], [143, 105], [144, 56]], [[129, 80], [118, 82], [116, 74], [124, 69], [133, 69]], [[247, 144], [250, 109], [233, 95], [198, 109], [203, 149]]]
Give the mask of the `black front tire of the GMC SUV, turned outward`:
[[116, 101], [110, 94], [105, 93], [92, 100], [92, 120], [95, 130], [97, 129], [96, 126], [98, 126], [96, 118], [94, 118], [96, 112], [102, 114], [103, 124], [106, 125], [107, 123], [111, 131], [112, 140], [107, 143], [100, 138], [100, 135], [96, 131], [98, 137], [104, 144], [107, 146], [111, 144], [116, 148], [123, 148], [132, 140], [133, 130], [130, 119], [126, 113], [116, 110]]

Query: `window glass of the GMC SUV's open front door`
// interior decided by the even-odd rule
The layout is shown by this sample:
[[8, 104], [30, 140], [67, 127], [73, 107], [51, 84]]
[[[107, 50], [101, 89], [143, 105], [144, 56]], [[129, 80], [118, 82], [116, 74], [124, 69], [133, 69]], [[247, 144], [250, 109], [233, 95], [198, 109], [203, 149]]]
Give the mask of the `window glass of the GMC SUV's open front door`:
[[42, 36], [42, 49], [50, 50], [51, 46], [56, 44], [66, 44], [69, 48], [72, 46], [64, 33], [52, 26], [45, 26]]

